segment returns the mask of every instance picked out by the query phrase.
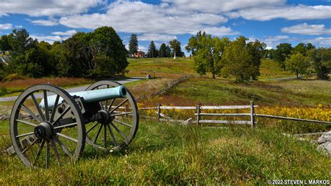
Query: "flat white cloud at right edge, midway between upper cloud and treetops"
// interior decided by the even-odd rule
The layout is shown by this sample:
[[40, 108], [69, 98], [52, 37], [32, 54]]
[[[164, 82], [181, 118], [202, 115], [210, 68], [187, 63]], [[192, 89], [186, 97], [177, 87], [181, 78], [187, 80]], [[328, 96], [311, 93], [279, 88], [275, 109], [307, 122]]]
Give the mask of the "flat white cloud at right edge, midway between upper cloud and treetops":
[[325, 29], [324, 24], [296, 24], [292, 27], [284, 27], [281, 29], [284, 33], [302, 34], [302, 35], [323, 35], [331, 34], [331, 29]]

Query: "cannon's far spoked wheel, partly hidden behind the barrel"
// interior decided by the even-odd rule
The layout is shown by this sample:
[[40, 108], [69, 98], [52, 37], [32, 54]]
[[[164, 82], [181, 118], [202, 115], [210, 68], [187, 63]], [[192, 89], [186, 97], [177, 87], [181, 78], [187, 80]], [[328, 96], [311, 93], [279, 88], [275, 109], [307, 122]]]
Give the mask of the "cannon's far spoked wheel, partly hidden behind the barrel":
[[[103, 80], [87, 87], [87, 90], [118, 87], [121, 84]], [[127, 90], [126, 97], [101, 101], [100, 112], [107, 117], [102, 122], [92, 122], [87, 127], [87, 143], [103, 150], [123, 150], [138, 130], [139, 113], [135, 99]]]

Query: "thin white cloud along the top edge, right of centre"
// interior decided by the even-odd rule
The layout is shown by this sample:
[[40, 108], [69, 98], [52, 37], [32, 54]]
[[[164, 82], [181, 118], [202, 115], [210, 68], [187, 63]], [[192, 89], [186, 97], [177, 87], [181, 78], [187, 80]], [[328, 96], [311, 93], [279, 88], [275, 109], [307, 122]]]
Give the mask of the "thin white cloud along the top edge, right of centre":
[[170, 3], [179, 10], [194, 10], [203, 13], [223, 13], [241, 8], [282, 5], [286, 3], [286, 0], [163, 0], [163, 2]]

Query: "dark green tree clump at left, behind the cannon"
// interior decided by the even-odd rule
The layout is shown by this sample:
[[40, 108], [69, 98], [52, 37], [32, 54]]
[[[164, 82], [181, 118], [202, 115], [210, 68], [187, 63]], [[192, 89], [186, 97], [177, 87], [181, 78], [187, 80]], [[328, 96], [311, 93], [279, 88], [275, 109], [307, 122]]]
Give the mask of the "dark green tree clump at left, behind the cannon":
[[0, 66], [0, 79], [27, 76], [105, 78], [124, 74], [128, 54], [112, 27], [79, 32], [52, 45], [38, 42], [26, 29], [1, 36], [1, 50], [10, 50], [10, 63]]

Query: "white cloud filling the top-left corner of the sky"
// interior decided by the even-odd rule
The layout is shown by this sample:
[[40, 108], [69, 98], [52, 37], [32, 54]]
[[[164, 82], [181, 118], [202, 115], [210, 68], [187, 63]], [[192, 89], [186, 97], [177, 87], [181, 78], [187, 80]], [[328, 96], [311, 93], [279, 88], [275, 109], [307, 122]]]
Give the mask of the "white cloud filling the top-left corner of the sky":
[[30, 16], [72, 15], [86, 13], [89, 8], [105, 4], [103, 0], [3, 0], [0, 15], [22, 13]]

